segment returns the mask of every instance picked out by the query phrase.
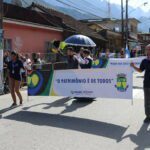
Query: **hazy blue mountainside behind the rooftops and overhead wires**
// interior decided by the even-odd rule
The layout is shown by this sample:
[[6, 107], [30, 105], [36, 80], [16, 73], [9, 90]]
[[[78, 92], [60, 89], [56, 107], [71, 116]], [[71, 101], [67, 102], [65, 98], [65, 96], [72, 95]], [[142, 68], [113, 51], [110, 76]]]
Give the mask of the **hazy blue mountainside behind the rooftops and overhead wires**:
[[[110, 5], [110, 13], [108, 11], [108, 3], [106, 0], [4, 0], [8, 3], [21, 4], [27, 7], [32, 2], [38, 3], [45, 7], [49, 7], [68, 14], [78, 20], [83, 19], [101, 19], [101, 18], [120, 18], [121, 7], [118, 4]], [[94, 2], [94, 3], [93, 3]], [[145, 12], [141, 8], [129, 7], [129, 17], [135, 17], [141, 21], [139, 31], [149, 32], [150, 28], [150, 11]], [[131, 12], [131, 13], [130, 13]]]

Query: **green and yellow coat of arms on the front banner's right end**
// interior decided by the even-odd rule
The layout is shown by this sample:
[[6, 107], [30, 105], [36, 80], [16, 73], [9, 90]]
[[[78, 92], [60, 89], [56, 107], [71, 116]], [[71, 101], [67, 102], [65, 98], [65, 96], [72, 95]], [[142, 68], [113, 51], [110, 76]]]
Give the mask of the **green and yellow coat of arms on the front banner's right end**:
[[117, 75], [117, 84], [115, 85], [118, 91], [126, 92], [129, 85], [127, 85], [127, 77], [126, 74], [118, 74]]

